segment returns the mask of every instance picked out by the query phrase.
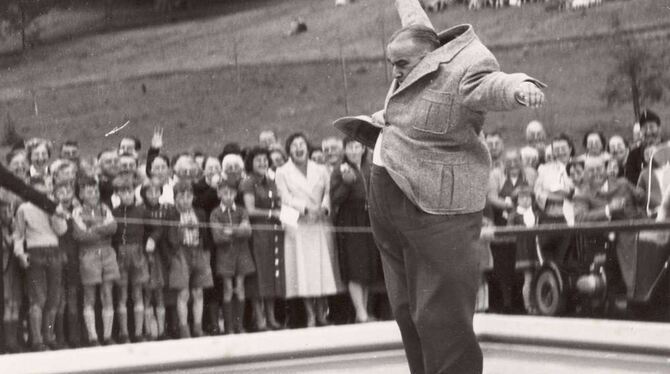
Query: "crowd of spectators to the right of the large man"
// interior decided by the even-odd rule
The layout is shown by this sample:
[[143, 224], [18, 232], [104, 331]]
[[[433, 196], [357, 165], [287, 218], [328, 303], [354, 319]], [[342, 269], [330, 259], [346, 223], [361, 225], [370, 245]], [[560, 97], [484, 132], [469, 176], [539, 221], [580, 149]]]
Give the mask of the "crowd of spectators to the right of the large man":
[[[527, 125], [526, 144], [520, 148], [505, 147], [498, 133], [483, 135], [494, 165], [488, 223], [532, 227], [654, 216], [661, 191], [670, 182], [666, 163], [649, 163], [662, 142], [661, 120], [644, 110], [632, 130], [630, 138], [611, 134], [609, 139], [588, 130], [581, 154], [570, 135], [550, 138], [538, 121]], [[544, 260], [560, 265], [568, 261], [573, 245], [574, 236], [565, 234], [541, 235], [537, 243], [492, 243], [493, 267], [487, 278], [491, 303], [481, 309], [537, 313], [530, 295], [537, 250]]]

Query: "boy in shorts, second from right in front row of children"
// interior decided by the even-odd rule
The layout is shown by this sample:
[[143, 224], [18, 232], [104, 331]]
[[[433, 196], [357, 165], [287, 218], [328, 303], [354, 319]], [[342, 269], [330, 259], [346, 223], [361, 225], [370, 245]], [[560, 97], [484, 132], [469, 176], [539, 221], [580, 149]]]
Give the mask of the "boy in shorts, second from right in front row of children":
[[208, 231], [202, 226], [207, 223], [202, 210], [193, 208], [193, 186], [189, 181], [180, 180], [174, 185], [175, 209], [168, 214], [168, 221], [179, 222], [170, 226], [168, 240], [172, 247], [170, 261], [170, 288], [178, 290], [177, 315], [179, 337], [191, 336], [188, 327], [189, 290], [193, 298], [193, 335], [202, 332], [203, 288], [214, 285], [209, 264], [210, 253], [205, 251], [209, 240]]

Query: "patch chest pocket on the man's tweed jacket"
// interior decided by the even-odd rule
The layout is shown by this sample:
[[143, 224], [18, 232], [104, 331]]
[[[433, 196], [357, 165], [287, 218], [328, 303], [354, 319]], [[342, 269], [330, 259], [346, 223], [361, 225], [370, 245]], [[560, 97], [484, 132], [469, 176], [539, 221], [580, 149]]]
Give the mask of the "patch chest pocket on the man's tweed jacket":
[[427, 89], [416, 105], [415, 130], [430, 134], [445, 134], [451, 128], [454, 95]]

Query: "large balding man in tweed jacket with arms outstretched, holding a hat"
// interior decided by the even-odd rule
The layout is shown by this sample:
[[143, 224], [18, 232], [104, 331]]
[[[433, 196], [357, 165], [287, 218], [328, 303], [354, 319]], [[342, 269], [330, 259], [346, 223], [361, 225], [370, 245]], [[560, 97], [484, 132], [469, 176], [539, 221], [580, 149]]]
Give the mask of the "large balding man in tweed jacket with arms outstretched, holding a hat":
[[491, 158], [478, 135], [486, 111], [539, 106], [544, 85], [500, 72], [470, 25], [437, 34], [418, 0], [396, 8], [403, 28], [387, 47], [395, 79], [373, 115], [381, 133], [348, 134], [374, 145], [372, 230], [411, 372], [481, 373], [474, 244]]

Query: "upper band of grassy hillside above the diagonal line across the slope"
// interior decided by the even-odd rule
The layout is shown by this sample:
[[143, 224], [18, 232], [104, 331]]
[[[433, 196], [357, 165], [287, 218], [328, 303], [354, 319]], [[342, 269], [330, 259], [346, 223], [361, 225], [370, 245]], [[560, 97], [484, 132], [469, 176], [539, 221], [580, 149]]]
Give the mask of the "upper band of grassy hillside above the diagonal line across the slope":
[[[25, 56], [3, 57], [0, 99], [26, 87], [220, 67], [233, 63], [235, 43], [243, 64], [337, 58], [340, 43], [348, 57], [381, 56], [383, 40], [399, 25], [392, 0], [333, 4], [273, 1], [229, 15], [87, 36], [42, 46]], [[481, 11], [459, 6], [432, 18], [439, 29], [472, 23], [485, 43], [499, 45], [607, 32], [617, 17], [622, 28], [669, 23], [667, 6], [667, 0], [618, 0], [563, 13], [546, 12], [543, 4]], [[307, 21], [308, 32], [286, 36], [298, 16]]]

